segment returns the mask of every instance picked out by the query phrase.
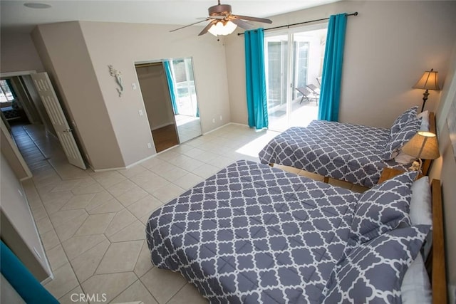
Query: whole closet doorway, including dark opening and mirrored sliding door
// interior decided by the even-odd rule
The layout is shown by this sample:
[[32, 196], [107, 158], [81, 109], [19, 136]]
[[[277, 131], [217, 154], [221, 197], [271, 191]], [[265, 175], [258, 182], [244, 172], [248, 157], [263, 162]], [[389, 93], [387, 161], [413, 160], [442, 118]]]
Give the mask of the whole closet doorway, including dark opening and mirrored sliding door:
[[192, 58], [135, 63], [155, 150], [202, 135]]

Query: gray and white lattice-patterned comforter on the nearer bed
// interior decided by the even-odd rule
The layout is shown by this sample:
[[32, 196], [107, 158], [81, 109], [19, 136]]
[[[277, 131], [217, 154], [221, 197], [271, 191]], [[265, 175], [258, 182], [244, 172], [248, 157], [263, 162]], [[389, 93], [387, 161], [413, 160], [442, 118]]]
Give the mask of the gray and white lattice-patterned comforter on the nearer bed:
[[318, 303], [358, 195], [238, 161], [152, 213], [152, 263], [211, 303]]

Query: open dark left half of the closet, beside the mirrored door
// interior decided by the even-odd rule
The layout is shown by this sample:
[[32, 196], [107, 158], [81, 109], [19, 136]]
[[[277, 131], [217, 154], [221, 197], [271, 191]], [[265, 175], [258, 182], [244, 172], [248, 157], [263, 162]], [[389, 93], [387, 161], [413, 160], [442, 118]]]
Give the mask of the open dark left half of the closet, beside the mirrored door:
[[155, 150], [158, 153], [179, 145], [163, 63], [140, 63], [135, 68]]

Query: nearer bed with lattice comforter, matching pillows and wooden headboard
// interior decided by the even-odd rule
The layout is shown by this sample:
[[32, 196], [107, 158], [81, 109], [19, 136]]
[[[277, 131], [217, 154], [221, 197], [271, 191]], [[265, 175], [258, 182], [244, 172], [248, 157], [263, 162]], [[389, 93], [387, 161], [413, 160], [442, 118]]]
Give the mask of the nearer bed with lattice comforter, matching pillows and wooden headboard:
[[[380, 295], [373, 296], [380, 303], [395, 303], [404, 297], [401, 281], [430, 229], [410, 223], [413, 174], [358, 194], [238, 161], [151, 214], [146, 226], [151, 261], [180, 272], [210, 303], [364, 303], [371, 292]], [[440, 184], [434, 188], [440, 191]], [[438, 221], [432, 261], [440, 255], [444, 262], [442, 244], [435, 241], [440, 240]], [[388, 243], [398, 256], [385, 256], [394, 251], [385, 247]], [[378, 254], [387, 262], [379, 263]], [[369, 263], [373, 269], [366, 267], [364, 256], [375, 260]], [[367, 288], [372, 276], [378, 282]], [[445, 266], [433, 266], [432, 276], [445, 279]], [[353, 287], [356, 278], [361, 285]], [[408, 294], [415, 297], [415, 283], [409, 285]], [[445, 282], [432, 285], [439, 286], [446, 288]]]

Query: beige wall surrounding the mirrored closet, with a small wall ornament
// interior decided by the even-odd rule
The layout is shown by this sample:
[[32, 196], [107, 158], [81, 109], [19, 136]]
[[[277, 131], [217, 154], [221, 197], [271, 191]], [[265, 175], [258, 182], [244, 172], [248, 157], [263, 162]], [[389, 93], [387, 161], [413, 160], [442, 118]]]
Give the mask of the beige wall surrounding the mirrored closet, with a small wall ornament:
[[[142, 95], [132, 88], [138, 84], [135, 62], [192, 57], [203, 132], [230, 121], [223, 41], [197, 36], [199, 27], [170, 34], [172, 28], [66, 22], [33, 31], [41, 61], [61, 92], [84, 154], [95, 169], [126, 167], [154, 154], [147, 147], [152, 142], [147, 117], [138, 114], [145, 110]], [[108, 65], [122, 73], [120, 98]]]

